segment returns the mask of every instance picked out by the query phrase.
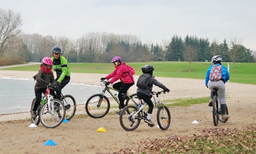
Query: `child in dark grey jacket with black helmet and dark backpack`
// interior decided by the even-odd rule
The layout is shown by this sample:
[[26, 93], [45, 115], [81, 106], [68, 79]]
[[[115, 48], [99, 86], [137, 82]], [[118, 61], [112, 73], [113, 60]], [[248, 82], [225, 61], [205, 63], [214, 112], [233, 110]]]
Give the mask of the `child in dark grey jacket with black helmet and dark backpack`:
[[164, 89], [164, 92], [169, 92], [170, 90], [166, 88], [162, 83], [158, 82], [152, 75], [154, 67], [151, 65], [145, 65], [141, 67], [142, 75], [140, 75], [137, 81], [137, 96], [140, 97], [149, 106], [147, 118], [144, 121], [151, 126], [155, 124], [151, 121], [151, 114], [153, 112], [154, 104], [150, 98], [152, 98], [151, 92], [153, 84]]

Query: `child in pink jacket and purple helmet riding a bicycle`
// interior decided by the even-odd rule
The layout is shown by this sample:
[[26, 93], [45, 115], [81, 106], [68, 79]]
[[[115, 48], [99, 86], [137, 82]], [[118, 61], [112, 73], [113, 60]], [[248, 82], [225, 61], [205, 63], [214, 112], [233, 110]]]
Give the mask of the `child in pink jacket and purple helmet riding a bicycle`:
[[[120, 79], [120, 82], [117, 82], [113, 84], [113, 88], [119, 90], [118, 93], [118, 99], [120, 102], [121, 110], [124, 108], [124, 94], [127, 93], [128, 89], [134, 85], [134, 79], [133, 79], [133, 74], [135, 74], [134, 69], [131, 66], [126, 65], [124, 62], [121, 61], [122, 59], [120, 57], [114, 57], [111, 60], [111, 63], [115, 66], [115, 70], [107, 75], [104, 78], [100, 78], [100, 80], [109, 80], [106, 84], [109, 85], [110, 83], [113, 84], [115, 81]], [[121, 113], [121, 110], [116, 112], [116, 114]]]

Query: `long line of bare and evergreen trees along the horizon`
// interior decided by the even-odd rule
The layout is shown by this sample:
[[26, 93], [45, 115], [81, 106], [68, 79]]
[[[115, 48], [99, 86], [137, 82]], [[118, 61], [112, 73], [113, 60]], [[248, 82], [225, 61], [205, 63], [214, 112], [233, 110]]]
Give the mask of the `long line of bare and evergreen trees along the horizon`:
[[174, 34], [161, 43], [142, 42], [138, 36], [108, 32], [90, 32], [77, 39], [66, 36], [21, 34], [20, 13], [0, 9], [0, 58], [14, 56], [26, 62], [39, 62], [52, 56], [52, 47], [58, 45], [61, 55], [73, 63], [109, 63], [115, 56], [125, 62], [148, 61], [211, 61], [221, 55], [224, 62], [255, 62], [252, 50], [243, 46], [238, 38], [218, 42], [209, 38]]

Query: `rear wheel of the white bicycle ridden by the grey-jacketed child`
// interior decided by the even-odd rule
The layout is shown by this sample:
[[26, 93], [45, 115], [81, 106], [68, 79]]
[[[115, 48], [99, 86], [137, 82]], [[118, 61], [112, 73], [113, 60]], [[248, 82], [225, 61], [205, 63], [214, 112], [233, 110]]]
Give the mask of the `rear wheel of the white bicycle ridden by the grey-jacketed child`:
[[[124, 130], [133, 131], [137, 127], [139, 127], [141, 115], [140, 115], [140, 112], [136, 114], [137, 110], [138, 110], [137, 107], [133, 105], [129, 105], [129, 106], [125, 106], [124, 109], [121, 111], [119, 121], [121, 126], [124, 128]], [[126, 114], [124, 114], [124, 112], [126, 112]], [[131, 113], [128, 113], [128, 112], [131, 112]]]

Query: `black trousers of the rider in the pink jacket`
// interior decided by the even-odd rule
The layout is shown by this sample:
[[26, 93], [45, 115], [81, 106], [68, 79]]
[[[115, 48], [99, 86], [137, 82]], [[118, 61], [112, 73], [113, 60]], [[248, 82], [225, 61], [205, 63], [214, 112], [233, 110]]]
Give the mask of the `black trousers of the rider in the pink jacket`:
[[120, 102], [121, 109], [124, 108], [124, 97], [123, 95], [127, 93], [128, 89], [132, 87], [133, 83], [123, 83], [123, 82], [116, 82], [113, 84], [113, 88], [119, 90], [118, 98]]

